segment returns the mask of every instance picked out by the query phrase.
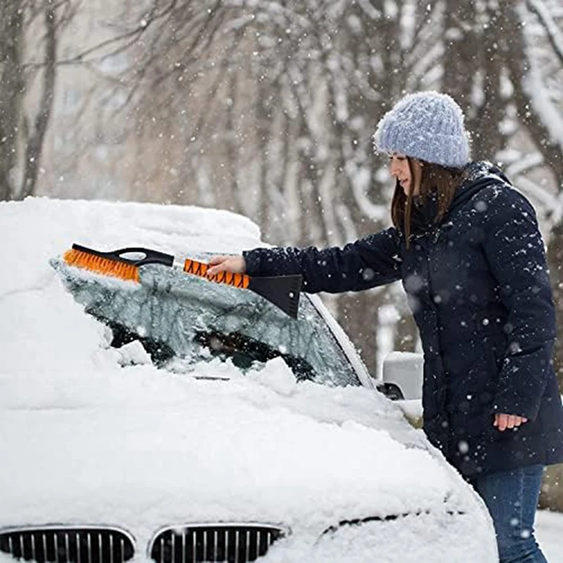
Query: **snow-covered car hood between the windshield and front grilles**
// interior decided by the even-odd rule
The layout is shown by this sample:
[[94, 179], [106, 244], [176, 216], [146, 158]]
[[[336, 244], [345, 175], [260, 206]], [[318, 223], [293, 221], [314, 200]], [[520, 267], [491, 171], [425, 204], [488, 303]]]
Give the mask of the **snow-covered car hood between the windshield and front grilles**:
[[198, 374], [231, 379], [150, 366], [0, 377], [0, 525], [139, 533], [234, 520], [320, 533], [343, 519], [442, 511], [446, 499], [449, 510], [471, 504], [373, 391], [297, 384], [279, 359], [248, 377], [217, 360]]

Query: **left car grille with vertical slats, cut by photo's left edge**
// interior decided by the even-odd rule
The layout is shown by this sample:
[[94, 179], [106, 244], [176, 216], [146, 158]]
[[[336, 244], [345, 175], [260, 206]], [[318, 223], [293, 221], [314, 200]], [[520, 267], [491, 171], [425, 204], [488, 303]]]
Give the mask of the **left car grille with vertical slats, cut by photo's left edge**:
[[132, 559], [129, 533], [101, 526], [0, 529], [0, 551], [37, 563], [123, 563]]

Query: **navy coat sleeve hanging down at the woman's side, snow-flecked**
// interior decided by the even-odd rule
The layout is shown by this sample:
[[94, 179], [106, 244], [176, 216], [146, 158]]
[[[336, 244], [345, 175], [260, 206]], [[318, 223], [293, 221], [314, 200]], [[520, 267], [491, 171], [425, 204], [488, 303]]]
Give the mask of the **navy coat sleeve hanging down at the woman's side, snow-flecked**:
[[555, 307], [536, 214], [515, 189], [498, 187], [488, 203], [485, 252], [508, 311], [507, 349], [493, 412], [535, 419], [552, 371]]

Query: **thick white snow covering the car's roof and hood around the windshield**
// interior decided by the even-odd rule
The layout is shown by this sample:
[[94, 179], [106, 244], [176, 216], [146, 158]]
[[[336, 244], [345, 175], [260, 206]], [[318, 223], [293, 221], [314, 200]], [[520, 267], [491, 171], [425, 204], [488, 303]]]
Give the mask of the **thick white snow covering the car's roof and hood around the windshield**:
[[[297, 384], [282, 360], [202, 381], [120, 367], [107, 329], [49, 266], [73, 242], [240, 252], [257, 227], [216, 210], [28, 198], [0, 203], [0, 526], [284, 522], [469, 510], [474, 497], [421, 431], [367, 388]], [[139, 351], [139, 350], [137, 350]], [[142, 355], [142, 353], [140, 353]], [[424, 446], [426, 447], [426, 446]], [[416, 478], [413, 479], [413, 468]]]

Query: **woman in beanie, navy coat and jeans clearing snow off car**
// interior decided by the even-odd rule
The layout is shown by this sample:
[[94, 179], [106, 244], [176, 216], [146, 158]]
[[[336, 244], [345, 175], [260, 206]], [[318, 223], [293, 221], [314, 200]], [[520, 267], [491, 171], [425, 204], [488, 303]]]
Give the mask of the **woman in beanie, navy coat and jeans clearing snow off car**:
[[545, 562], [533, 521], [543, 467], [563, 462], [563, 408], [534, 210], [498, 168], [469, 163], [450, 96], [405, 96], [374, 137], [396, 179], [393, 227], [343, 248], [216, 256], [209, 273], [301, 273], [310, 293], [401, 279], [424, 349], [426, 435], [486, 502], [500, 561]]

